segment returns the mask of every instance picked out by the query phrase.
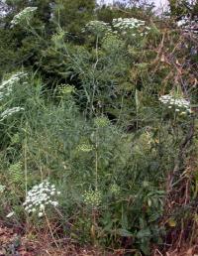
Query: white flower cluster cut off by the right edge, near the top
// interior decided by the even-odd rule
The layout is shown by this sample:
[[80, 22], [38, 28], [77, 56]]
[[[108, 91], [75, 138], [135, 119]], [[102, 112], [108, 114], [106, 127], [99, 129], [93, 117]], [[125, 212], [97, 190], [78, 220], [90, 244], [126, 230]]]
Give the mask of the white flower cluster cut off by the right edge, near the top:
[[184, 16], [177, 22], [177, 26], [187, 33], [198, 34], [198, 18], [191, 20], [189, 17]]

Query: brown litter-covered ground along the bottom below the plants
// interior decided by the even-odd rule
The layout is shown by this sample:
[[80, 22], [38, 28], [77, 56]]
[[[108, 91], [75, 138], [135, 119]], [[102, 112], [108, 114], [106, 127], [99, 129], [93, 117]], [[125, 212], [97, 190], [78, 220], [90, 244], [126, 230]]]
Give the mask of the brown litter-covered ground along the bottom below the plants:
[[[67, 242], [68, 243], [68, 242]], [[68, 243], [63, 248], [54, 246], [49, 234], [34, 238], [21, 236], [13, 228], [8, 228], [0, 224], [0, 256], [130, 256], [131, 251], [117, 250], [115, 252], [102, 252], [96, 248], [79, 248]], [[182, 248], [170, 248], [167, 252], [161, 253], [158, 249], [153, 249], [153, 256], [198, 256], [198, 245]]]

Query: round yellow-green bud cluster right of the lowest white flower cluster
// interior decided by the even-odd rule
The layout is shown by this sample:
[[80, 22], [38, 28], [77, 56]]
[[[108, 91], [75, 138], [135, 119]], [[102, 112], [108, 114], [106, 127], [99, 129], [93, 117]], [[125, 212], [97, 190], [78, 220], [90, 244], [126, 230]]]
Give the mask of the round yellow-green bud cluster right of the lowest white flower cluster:
[[87, 191], [83, 193], [83, 201], [87, 206], [98, 207], [102, 202], [102, 194], [98, 191]]

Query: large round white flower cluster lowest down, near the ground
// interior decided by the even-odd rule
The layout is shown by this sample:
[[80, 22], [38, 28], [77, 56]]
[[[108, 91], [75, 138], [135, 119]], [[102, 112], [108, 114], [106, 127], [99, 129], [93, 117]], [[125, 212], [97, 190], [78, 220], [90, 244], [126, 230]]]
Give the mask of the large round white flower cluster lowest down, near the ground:
[[54, 199], [57, 192], [54, 185], [50, 185], [48, 181], [41, 183], [38, 186], [34, 186], [33, 189], [28, 192], [25, 202], [25, 210], [28, 213], [34, 213], [39, 211], [39, 217], [42, 217], [45, 213], [46, 206], [52, 205], [56, 207], [58, 202]]

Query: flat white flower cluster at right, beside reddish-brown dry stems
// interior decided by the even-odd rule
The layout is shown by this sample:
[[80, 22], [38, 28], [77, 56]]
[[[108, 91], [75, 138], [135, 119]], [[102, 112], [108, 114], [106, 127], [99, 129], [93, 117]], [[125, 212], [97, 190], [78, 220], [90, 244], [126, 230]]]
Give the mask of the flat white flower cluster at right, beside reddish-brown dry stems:
[[174, 107], [176, 112], [181, 112], [182, 114], [191, 113], [190, 101], [183, 97], [173, 97], [170, 94], [166, 94], [160, 96], [159, 101], [166, 104], [169, 109]]

